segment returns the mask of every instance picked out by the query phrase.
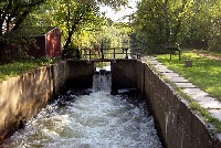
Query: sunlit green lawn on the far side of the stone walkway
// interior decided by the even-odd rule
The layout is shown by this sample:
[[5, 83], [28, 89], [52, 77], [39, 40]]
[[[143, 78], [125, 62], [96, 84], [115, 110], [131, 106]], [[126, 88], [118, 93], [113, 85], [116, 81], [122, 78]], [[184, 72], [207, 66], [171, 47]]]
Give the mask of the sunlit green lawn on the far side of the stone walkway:
[[[221, 61], [202, 57], [191, 51], [182, 52], [181, 61], [178, 60], [178, 55], [172, 55], [170, 61], [169, 54], [157, 55], [157, 59], [170, 70], [221, 101]], [[185, 66], [187, 59], [192, 60], [192, 67]]]

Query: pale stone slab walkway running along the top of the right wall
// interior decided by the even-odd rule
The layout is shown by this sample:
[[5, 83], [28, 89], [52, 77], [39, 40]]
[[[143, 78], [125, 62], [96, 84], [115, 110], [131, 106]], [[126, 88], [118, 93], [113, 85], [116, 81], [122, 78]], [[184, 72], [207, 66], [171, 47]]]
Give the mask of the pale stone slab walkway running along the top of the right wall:
[[192, 83], [188, 82], [187, 78], [180, 76], [173, 71], [167, 68], [167, 66], [162, 65], [157, 61], [156, 57], [145, 56], [141, 59], [144, 62], [155, 66], [159, 73], [161, 73], [167, 80], [175, 83], [178, 87], [180, 87], [183, 93], [190, 96], [193, 101], [198, 102], [198, 104], [206, 108], [211, 116], [218, 118], [221, 121], [221, 102], [214, 97], [211, 97], [210, 94], [200, 89]]

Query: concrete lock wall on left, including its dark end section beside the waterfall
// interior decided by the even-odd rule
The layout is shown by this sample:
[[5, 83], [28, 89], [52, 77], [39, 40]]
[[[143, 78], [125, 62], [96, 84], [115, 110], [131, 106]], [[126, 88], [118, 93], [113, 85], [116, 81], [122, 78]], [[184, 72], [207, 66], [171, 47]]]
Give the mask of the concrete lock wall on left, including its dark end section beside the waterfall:
[[92, 87], [94, 63], [66, 61], [0, 83], [0, 144], [67, 86]]

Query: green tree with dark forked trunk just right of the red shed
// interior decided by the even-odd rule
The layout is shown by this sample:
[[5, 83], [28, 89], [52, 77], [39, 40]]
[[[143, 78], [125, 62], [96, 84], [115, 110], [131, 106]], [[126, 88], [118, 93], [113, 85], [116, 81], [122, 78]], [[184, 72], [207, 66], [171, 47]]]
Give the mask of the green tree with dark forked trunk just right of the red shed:
[[[32, 20], [34, 17], [40, 17], [38, 21], [40, 22], [40, 19], [44, 20], [43, 17], [51, 18], [48, 22], [62, 30], [63, 47], [67, 49], [73, 41], [74, 33], [81, 32], [80, 30], [84, 29], [85, 25], [94, 23], [99, 27], [103, 24], [104, 17], [99, 13], [102, 4], [118, 9], [126, 3], [127, 0], [51, 0], [43, 8], [44, 14], [42, 17], [40, 17], [41, 14], [32, 15]], [[39, 11], [43, 12], [42, 10]]]

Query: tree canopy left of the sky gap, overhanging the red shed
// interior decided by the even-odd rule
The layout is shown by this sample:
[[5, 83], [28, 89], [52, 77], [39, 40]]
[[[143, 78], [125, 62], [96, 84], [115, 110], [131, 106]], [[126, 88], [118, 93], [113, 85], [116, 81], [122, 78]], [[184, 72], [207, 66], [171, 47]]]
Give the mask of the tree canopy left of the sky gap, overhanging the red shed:
[[6, 46], [20, 42], [18, 36], [24, 31], [20, 30], [28, 27], [59, 27], [67, 49], [74, 36], [85, 33], [83, 30], [97, 30], [106, 23], [101, 6], [117, 10], [126, 3], [127, 0], [1, 0], [0, 50], [3, 52]]

